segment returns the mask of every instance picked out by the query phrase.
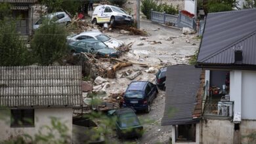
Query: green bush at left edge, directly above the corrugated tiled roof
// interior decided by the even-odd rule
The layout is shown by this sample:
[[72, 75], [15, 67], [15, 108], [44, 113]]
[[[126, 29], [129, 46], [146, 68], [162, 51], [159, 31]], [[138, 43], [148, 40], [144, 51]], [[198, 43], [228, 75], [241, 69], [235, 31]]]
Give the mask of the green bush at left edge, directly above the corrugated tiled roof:
[[24, 41], [16, 31], [16, 22], [4, 18], [0, 20], [0, 65], [30, 65], [31, 56]]

